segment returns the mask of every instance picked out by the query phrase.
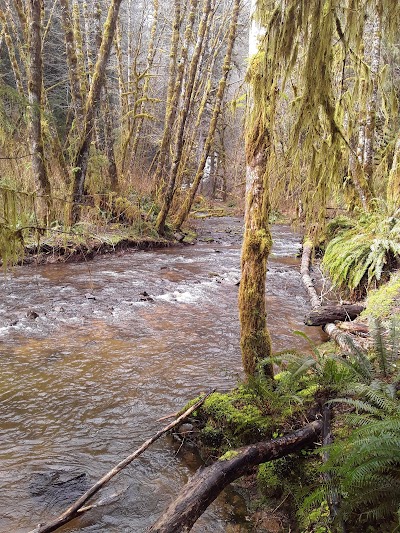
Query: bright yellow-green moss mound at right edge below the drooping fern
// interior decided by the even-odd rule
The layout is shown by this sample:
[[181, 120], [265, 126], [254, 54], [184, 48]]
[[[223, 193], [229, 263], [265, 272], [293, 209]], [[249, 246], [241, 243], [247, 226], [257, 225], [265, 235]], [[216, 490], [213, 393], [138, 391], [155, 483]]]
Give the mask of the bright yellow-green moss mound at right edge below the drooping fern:
[[379, 289], [370, 291], [367, 307], [361, 316], [387, 319], [400, 315], [400, 273], [392, 274], [390, 281]]

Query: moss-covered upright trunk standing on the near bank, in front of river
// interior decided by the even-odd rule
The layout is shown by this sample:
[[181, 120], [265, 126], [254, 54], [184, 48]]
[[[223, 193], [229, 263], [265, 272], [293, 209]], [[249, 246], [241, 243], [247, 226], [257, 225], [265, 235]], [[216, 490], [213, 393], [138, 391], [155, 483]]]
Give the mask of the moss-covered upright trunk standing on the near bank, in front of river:
[[[252, 0], [252, 13], [255, 7], [256, 0]], [[250, 57], [257, 52], [258, 35], [259, 28], [253, 20], [249, 39]], [[265, 106], [266, 103], [254, 98], [254, 86], [251, 82], [252, 80], [250, 106], [254, 116], [257, 114], [255, 104]], [[262, 131], [254, 131], [257, 124], [257, 120], [251, 120], [249, 131], [246, 132], [246, 207], [241, 256], [242, 276], [239, 286], [240, 345], [243, 368], [247, 376], [253, 376], [258, 362], [271, 355], [265, 304], [267, 258], [272, 246], [268, 222], [270, 204], [267, 169], [271, 141], [270, 133], [265, 127]], [[267, 365], [264, 372], [273, 376], [272, 365]]]

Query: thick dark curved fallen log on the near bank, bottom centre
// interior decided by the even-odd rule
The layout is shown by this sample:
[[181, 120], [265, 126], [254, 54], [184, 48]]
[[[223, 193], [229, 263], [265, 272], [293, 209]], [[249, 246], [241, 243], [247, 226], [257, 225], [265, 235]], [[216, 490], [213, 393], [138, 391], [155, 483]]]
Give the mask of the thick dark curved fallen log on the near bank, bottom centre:
[[279, 459], [315, 442], [322, 430], [316, 420], [279, 439], [258, 442], [230, 452], [207, 468], [199, 469], [148, 533], [190, 531], [196, 520], [232, 481], [250, 474], [261, 463]]

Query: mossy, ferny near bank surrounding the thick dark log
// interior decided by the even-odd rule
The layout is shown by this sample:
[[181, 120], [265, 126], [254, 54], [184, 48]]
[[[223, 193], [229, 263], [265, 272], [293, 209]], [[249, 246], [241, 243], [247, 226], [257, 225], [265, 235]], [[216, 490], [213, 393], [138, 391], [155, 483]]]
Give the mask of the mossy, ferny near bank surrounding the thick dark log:
[[200, 451], [221, 460], [333, 413], [332, 444], [261, 464], [242, 482], [252, 483], [251, 512], [279, 509], [300, 533], [337, 533], [343, 524], [349, 533], [399, 530], [400, 323], [371, 318], [370, 331], [368, 352], [327, 343], [276, 354], [273, 380], [263, 376], [266, 360], [256, 377], [212, 394], [195, 413]]

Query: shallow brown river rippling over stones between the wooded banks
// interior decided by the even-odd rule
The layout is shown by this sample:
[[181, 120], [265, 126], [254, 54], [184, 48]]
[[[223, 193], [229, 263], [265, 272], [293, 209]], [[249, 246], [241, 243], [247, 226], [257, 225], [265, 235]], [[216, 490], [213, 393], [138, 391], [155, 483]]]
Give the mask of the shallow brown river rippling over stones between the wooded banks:
[[[0, 532], [27, 532], [59, 514], [155, 433], [158, 418], [241, 378], [242, 223], [199, 225], [202, 240], [193, 246], [2, 275]], [[274, 348], [306, 349], [293, 330], [316, 341], [320, 333], [302, 324], [308, 301], [300, 238], [285, 226], [274, 227], [273, 238], [267, 301]], [[143, 532], [198, 464], [163, 438], [102, 491], [106, 505], [62, 531]], [[252, 530], [234, 490], [193, 531], [224, 532], [230, 524]]]

